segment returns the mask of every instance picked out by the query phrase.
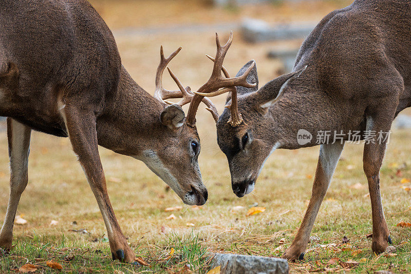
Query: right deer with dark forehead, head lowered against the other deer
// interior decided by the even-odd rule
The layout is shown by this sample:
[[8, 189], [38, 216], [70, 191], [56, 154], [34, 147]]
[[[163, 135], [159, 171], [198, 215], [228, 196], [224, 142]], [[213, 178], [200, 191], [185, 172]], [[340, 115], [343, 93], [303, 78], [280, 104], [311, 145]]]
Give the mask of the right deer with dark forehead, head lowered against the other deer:
[[[361, 139], [390, 131], [391, 123], [411, 106], [411, 2], [357, 0], [329, 13], [304, 41], [293, 72], [263, 87], [225, 88], [201, 96], [231, 92], [217, 122], [217, 141], [226, 154], [232, 188], [238, 197], [250, 193], [268, 156], [276, 149], [320, 144], [312, 196], [291, 246], [283, 258], [303, 259], [309, 235], [349, 133]], [[221, 62], [221, 60], [219, 60]], [[254, 62], [250, 83], [258, 84]], [[225, 72], [226, 77], [228, 74]], [[238, 95], [238, 98], [237, 98]], [[299, 130], [312, 135], [342, 133], [341, 142], [299, 143]], [[372, 244], [376, 253], [391, 238], [380, 196], [379, 171], [386, 138], [364, 144], [364, 172], [372, 208]]]

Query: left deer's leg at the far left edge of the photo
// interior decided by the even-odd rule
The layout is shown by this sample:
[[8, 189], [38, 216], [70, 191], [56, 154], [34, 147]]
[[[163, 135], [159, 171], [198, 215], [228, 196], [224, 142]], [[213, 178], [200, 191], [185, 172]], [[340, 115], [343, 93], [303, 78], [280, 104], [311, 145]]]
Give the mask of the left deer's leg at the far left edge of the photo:
[[7, 137], [10, 158], [10, 197], [6, 218], [0, 232], [0, 247], [11, 249], [13, 223], [18, 201], [27, 186], [27, 164], [30, 148], [30, 127], [7, 118]]

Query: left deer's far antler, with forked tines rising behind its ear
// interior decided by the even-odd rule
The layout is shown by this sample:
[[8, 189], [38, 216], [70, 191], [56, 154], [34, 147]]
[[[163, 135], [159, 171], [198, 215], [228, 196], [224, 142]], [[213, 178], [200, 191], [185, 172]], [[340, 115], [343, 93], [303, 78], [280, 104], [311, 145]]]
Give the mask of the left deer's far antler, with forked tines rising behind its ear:
[[[160, 102], [164, 102], [167, 104], [174, 104], [174, 103], [170, 101], [166, 101], [166, 99], [182, 98], [176, 104], [178, 104], [179, 106], [183, 106], [191, 102], [191, 100], [194, 97], [194, 94], [191, 92], [191, 89], [189, 86], [184, 88], [180, 80], [178, 80], [178, 78], [173, 74], [173, 71], [171, 71], [171, 69], [167, 67], [170, 61], [177, 55], [177, 53], [180, 50], [181, 50], [181, 47], [179, 47], [173, 53], [171, 53], [169, 57], [164, 58], [163, 46], [160, 47], [160, 64], [158, 65], [157, 72], [156, 72], [156, 90], [154, 93], [154, 98], [156, 98]], [[180, 90], [168, 90], [163, 87], [162, 78], [163, 78], [163, 72], [164, 72], [165, 67], [167, 67], [167, 69], [169, 70], [171, 77], [176, 82]], [[217, 122], [218, 112], [213, 102], [211, 102], [211, 100], [208, 98], [203, 98], [202, 102], [204, 102], [204, 104], [207, 105], [206, 109], [209, 112], [211, 112], [214, 120]]]

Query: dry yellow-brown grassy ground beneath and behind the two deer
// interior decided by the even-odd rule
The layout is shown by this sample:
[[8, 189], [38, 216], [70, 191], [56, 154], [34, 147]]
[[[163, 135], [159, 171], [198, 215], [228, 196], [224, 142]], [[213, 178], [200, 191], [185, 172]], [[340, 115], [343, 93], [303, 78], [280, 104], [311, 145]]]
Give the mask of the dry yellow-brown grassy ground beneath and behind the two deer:
[[[168, 13], [161, 6], [153, 8], [149, 5], [153, 2], [148, 1], [112, 3], [93, 2], [114, 29], [124, 66], [137, 83], [153, 93], [160, 44], [164, 45], [166, 54], [178, 46], [183, 47], [170, 64], [183, 84], [194, 89], [207, 81], [212, 63], [204, 54], [215, 52], [213, 31], [141, 34], [128, 33], [126, 28], [152, 27], [158, 22], [165, 25], [169, 21], [173, 24], [237, 22], [245, 15], [276, 23], [302, 20], [305, 14], [306, 21], [318, 21], [348, 2], [313, 2], [306, 9], [298, 4], [280, 3], [237, 10], [196, 9], [198, 5], [193, 2], [175, 1], [180, 6], [170, 5], [168, 8], [172, 11]], [[161, 5], [164, 1], [155, 3], [153, 5]], [[191, 12], [180, 11], [181, 5], [193, 5], [188, 7]], [[147, 10], [153, 14], [147, 14]], [[139, 15], [133, 16], [137, 12]], [[221, 40], [227, 39], [228, 31], [222, 31], [220, 36]], [[248, 44], [241, 41], [236, 31], [225, 66], [234, 75], [244, 63], [255, 59], [260, 83], [265, 83], [281, 69], [277, 60], [266, 58], [267, 51], [275, 47], [298, 47], [301, 42]], [[165, 74], [164, 78], [166, 87], [175, 86]], [[223, 100], [214, 99], [220, 112]], [[408, 109], [404, 113], [411, 114], [411, 111]], [[108, 192], [122, 230], [136, 254], [151, 265], [140, 268], [111, 260], [101, 214], [68, 139], [33, 133], [29, 184], [17, 212], [27, 224], [15, 225], [15, 246], [10, 255], [0, 255], [0, 272], [12, 272], [26, 263], [37, 265], [39, 272], [52, 272], [54, 270], [46, 266], [46, 261], [53, 260], [68, 272], [178, 273], [190, 269], [204, 273], [210, 268], [204, 255], [207, 251], [281, 256], [294, 238], [310, 199], [319, 147], [277, 150], [267, 160], [254, 192], [240, 199], [231, 190], [227, 159], [216, 143], [215, 123], [203, 107], [197, 120], [201, 138], [199, 163], [209, 190], [209, 200], [202, 207], [182, 205], [180, 198], [142, 162], [100, 149]], [[385, 217], [397, 246], [397, 255], [386, 258], [372, 254], [371, 241], [366, 238], [366, 234], [371, 233], [371, 206], [362, 168], [363, 145], [348, 144], [311, 233], [318, 239], [309, 244], [304, 261], [290, 263], [291, 272], [411, 271], [411, 231], [397, 226], [402, 221], [410, 222], [407, 187], [411, 183], [406, 180], [411, 178], [410, 138], [409, 130], [393, 130], [381, 169]], [[3, 155], [0, 158], [1, 225], [9, 192], [5, 131], [0, 132], [0, 153]], [[256, 203], [266, 210], [246, 216]], [[180, 206], [180, 210], [165, 211]], [[175, 218], [167, 220], [171, 214]], [[350, 240], [345, 245], [342, 244], [344, 236]], [[360, 264], [350, 270], [342, 269], [338, 263], [327, 263], [332, 258], [340, 258], [343, 262], [350, 259]]]

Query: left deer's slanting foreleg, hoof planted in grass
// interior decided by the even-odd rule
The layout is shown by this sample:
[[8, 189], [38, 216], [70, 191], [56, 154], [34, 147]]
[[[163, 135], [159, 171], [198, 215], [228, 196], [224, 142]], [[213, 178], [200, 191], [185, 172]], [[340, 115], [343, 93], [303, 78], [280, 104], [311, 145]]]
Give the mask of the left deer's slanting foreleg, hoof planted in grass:
[[77, 154], [91, 190], [97, 199], [107, 228], [113, 260], [136, 263], [136, 256], [127, 244], [108, 198], [106, 180], [98, 151], [96, 116], [92, 111], [80, 110], [68, 104], [61, 109], [61, 113], [66, 123], [73, 151]]

